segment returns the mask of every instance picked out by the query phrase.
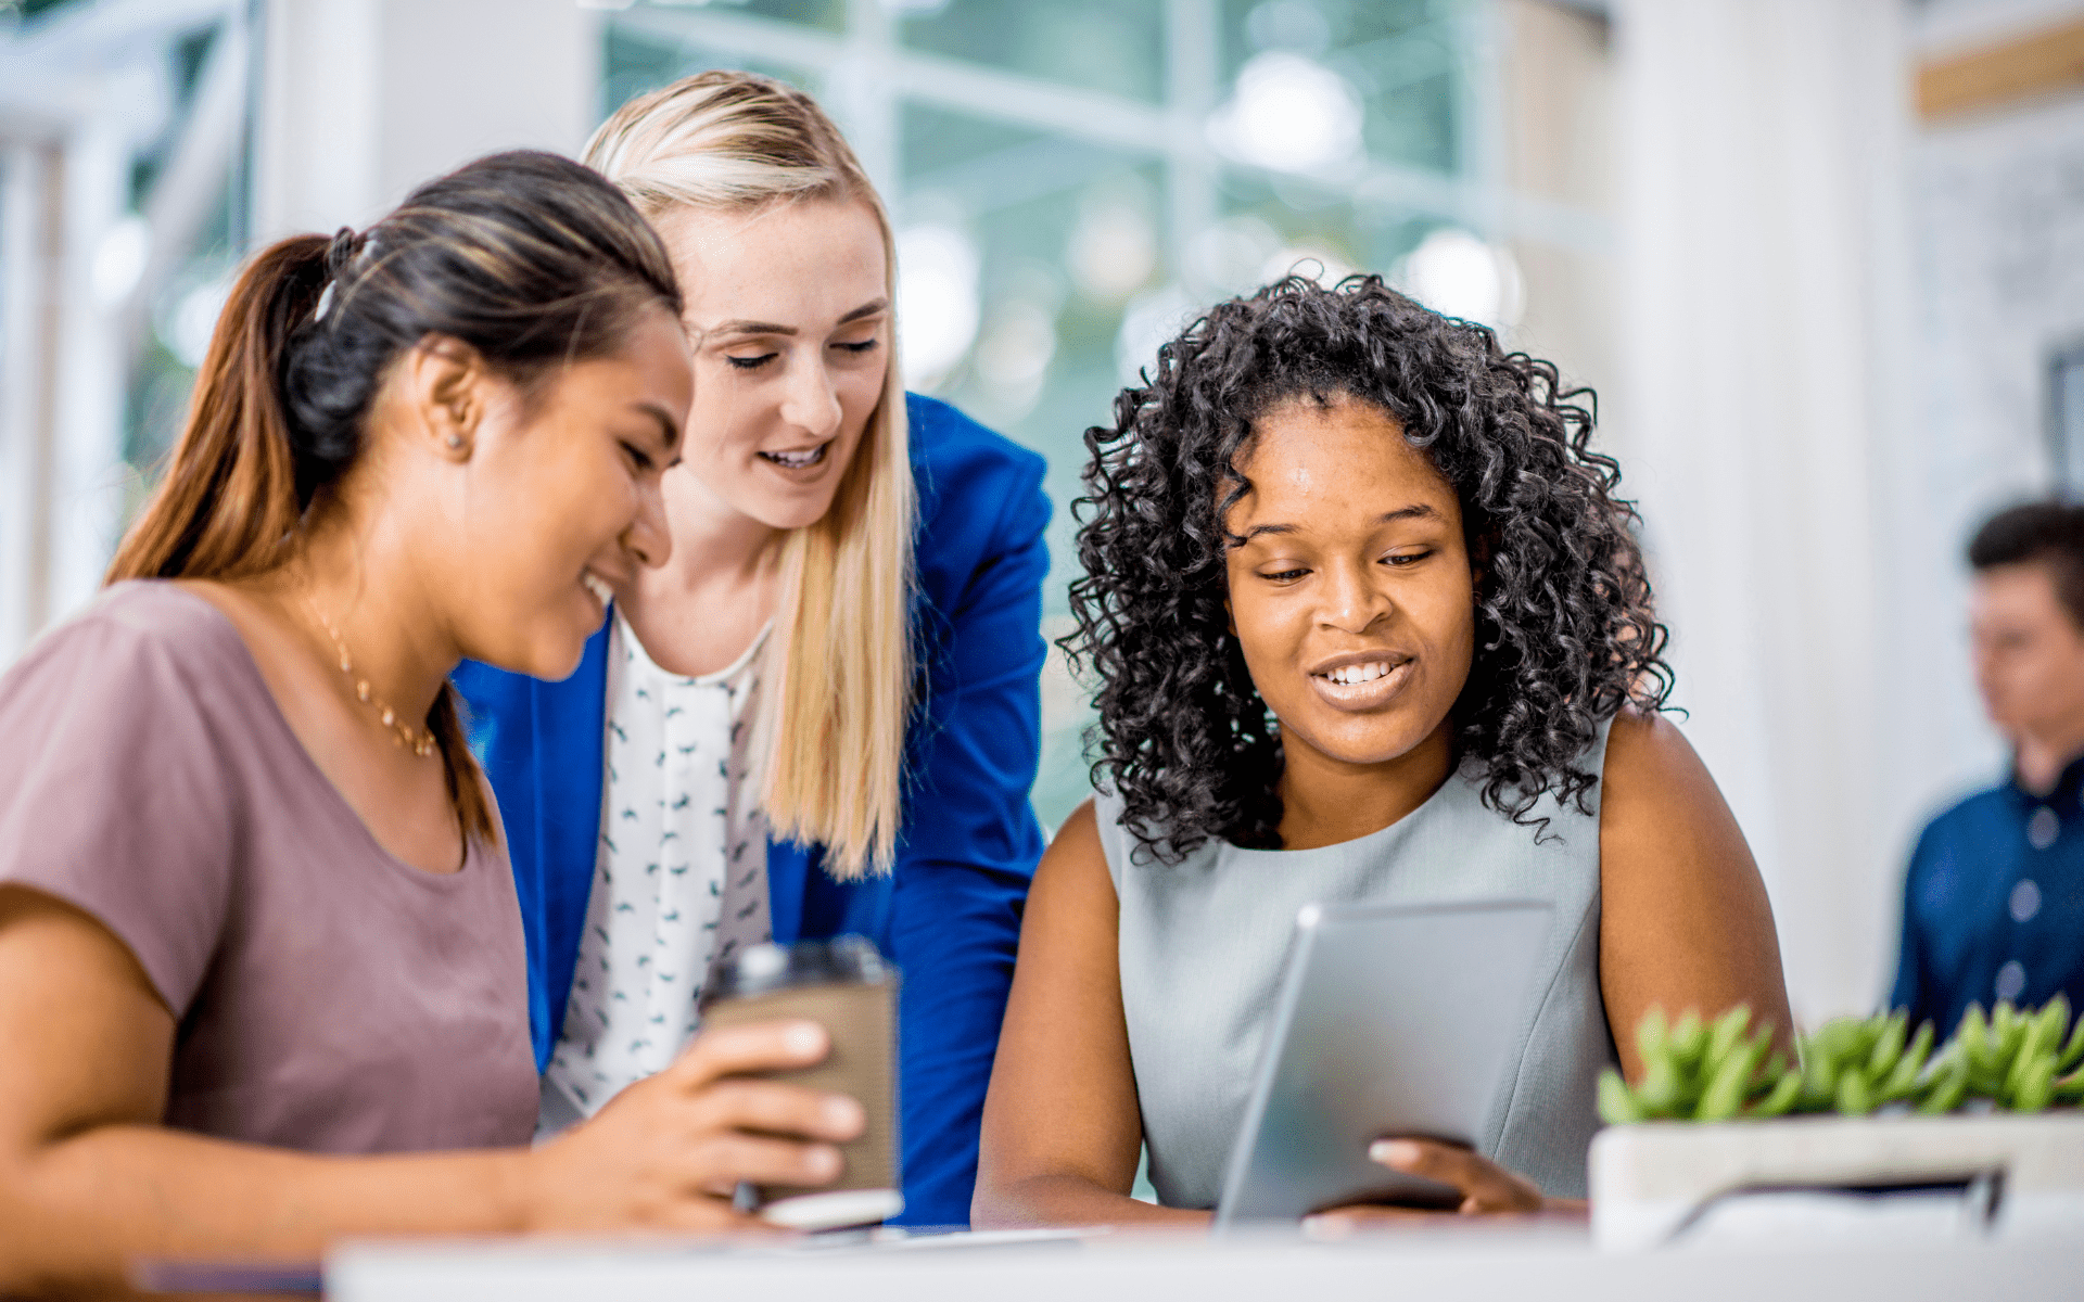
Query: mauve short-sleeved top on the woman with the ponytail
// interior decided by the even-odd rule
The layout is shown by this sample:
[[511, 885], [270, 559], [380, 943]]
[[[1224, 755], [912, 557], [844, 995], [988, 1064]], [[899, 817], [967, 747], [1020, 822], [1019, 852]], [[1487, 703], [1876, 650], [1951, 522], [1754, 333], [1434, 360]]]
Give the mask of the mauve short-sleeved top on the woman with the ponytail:
[[179, 1023], [167, 1125], [308, 1152], [527, 1144], [504, 848], [473, 842], [452, 875], [386, 852], [213, 604], [117, 583], [0, 677], [0, 881], [138, 956]]

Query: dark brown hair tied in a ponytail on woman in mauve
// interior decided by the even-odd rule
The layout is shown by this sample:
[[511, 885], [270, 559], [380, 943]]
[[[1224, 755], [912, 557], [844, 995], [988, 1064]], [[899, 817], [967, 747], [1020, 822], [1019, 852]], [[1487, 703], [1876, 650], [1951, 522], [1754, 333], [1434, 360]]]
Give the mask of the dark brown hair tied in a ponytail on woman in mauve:
[[[527, 383], [615, 352], [661, 306], [679, 317], [659, 235], [598, 173], [556, 154], [479, 158], [365, 235], [281, 240], [240, 273], [167, 475], [104, 581], [235, 581], [288, 565], [306, 510], [361, 454], [392, 362], [427, 335]], [[492, 842], [452, 685], [423, 723], [465, 835]]]

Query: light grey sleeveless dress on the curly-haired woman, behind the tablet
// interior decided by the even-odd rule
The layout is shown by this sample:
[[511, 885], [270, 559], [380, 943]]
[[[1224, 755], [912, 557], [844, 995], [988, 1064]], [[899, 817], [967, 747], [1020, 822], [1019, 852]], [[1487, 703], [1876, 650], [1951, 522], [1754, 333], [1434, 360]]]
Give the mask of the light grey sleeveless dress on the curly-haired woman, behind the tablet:
[[[1584, 758], [1601, 773], [1607, 729]], [[1613, 1062], [1598, 994], [1598, 804], [1586, 817], [1542, 798], [1548, 829], [1484, 808], [1480, 783], [1448, 777], [1382, 831], [1319, 850], [1240, 850], [1209, 842], [1184, 862], [1132, 850], [1121, 800], [1094, 802], [1107, 871], [1121, 900], [1121, 1006], [1165, 1206], [1215, 1206], [1265, 1042], [1296, 910], [1321, 902], [1548, 900], [1550, 931], [1534, 1000], [1478, 1148], [1553, 1198], [1584, 1198], [1598, 1129], [1598, 1071]], [[1482, 962], [1471, 954], [1469, 962]], [[1394, 998], [1394, 992], [1384, 992]]]

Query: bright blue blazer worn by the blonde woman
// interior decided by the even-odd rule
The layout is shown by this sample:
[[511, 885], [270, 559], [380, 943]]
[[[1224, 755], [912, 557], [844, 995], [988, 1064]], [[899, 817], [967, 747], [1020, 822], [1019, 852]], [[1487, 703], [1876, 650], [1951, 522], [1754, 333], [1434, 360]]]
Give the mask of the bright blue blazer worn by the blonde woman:
[[[898, 1098], [909, 1225], [965, 1225], [977, 1121], [1013, 983], [1042, 829], [1044, 462], [963, 412], [907, 398], [919, 487], [913, 608], [923, 700], [907, 731], [896, 871], [834, 881], [823, 850], [767, 846], [775, 940], [867, 935], [904, 975]], [[556, 1044], [594, 890], [606, 731], [602, 627], [548, 683], [486, 665], [454, 673], [471, 744], [506, 825], [527, 931], [538, 1071]]]

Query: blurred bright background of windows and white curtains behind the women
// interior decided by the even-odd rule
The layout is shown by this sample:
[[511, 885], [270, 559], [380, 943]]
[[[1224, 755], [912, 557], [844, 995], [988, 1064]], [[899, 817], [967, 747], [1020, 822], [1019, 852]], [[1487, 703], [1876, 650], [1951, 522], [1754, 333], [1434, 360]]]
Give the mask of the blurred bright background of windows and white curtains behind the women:
[[[704, 67], [807, 85], [902, 358], [1050, 460], [1159, 340], [1380, 271], [1601, 396], [1798, 1017], [1996, 777], [1961, 544], [2084, 481], [2084, 0], [0, 0], [0, 662], [92, 598], [238, 260]], [[1036, 806], [1084, 794], [1052, 662]]]

